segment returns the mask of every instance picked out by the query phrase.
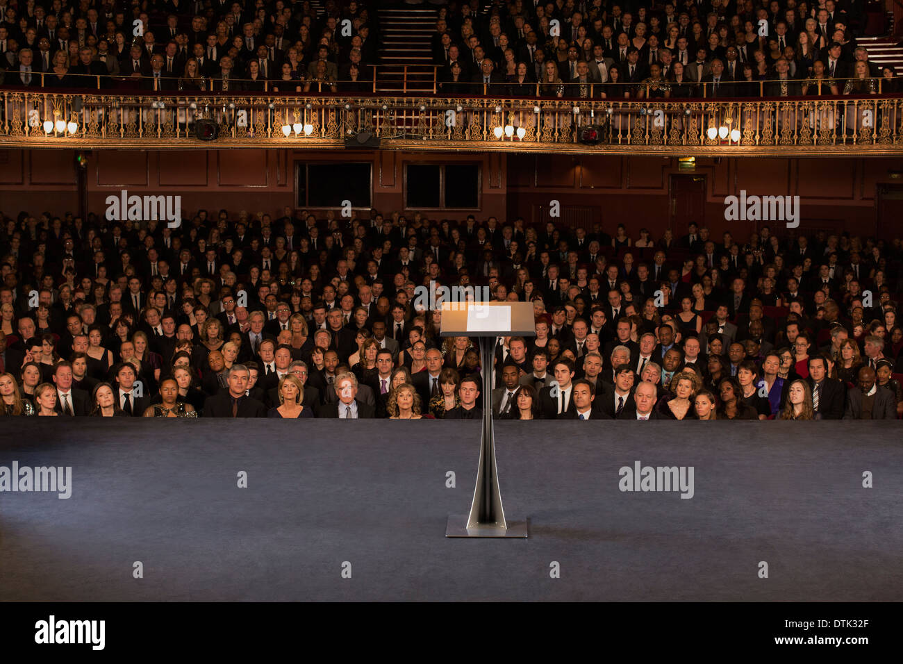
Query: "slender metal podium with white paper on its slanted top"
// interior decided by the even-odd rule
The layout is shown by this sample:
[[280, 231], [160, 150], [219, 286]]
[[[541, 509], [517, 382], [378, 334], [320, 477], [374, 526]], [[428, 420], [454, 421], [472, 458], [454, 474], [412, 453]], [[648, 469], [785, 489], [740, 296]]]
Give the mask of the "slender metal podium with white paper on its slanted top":
[[483, 375], [483, 430], [479, 444], [477, 483], [473, 490], [470, 513], [449, 515], [445, 537], [526, 538], [528, 519], [506, 519], [501, 493], [498, 491], [496, 445], [492, 427], [492, 376], [497, 337], [535, 336], [533, 304], [443, 303], [440, 335], [478, 337], [479, 366]]

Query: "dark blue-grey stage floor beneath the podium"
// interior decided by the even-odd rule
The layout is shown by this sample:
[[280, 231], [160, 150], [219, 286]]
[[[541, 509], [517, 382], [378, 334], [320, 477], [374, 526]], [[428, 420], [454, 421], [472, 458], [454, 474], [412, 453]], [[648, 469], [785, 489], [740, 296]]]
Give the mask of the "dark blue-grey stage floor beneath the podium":
[[[72, 467], [0, 493], [5, 601], [903, 599], [898, 422], [497, 423], [521, 540], [444, 537], [479, 422], [59, 422], [0, 421], [0, 466]], [[636, 461], [694, 497], [619, 491]]]

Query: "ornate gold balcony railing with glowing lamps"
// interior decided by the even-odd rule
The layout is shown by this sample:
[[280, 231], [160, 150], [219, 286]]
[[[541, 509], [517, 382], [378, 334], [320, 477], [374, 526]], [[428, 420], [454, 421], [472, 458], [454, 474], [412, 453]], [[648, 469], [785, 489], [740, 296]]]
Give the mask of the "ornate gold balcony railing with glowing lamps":
[[[564, 100], [75, 95], [4, 90], [0, 147], [382, 147], [628, 154], [900, 154], [903, 98]], [[200, 141], [208, 119], [219, 136]], [[209, 124], [209, 123], [208, 123]], [[595, 139], [595, 145], [587, 145]]]

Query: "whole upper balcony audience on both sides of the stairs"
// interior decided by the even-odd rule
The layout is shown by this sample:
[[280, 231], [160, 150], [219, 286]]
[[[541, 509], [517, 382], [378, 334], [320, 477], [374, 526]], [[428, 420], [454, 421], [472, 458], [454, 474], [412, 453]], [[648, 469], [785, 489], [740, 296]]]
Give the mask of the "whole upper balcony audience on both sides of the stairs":
[[[363, 0], [327, 0], [321, 12], [287, 0], [10, 3], [0, 79], [26, 88], [368, 92], [376, 9]], [[459, 0], [437, 9], [430, 48], [440, 91], [459, 96], [899, 92], [894, 67], [857, 44], [865, 26], [862, 0]]]

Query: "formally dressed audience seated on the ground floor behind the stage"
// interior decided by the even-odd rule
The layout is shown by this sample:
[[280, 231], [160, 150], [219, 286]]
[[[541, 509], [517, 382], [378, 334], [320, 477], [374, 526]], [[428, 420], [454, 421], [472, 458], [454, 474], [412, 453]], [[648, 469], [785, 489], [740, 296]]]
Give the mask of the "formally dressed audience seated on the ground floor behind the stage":
[[[291, 208], [175, 229], [0, 218], [6, 416], [903, 414], [899, 238]], [[499, 338], [482, 367], [475, 340], [441, 335], [431, 285], [530, 302], [535, 336]]]

